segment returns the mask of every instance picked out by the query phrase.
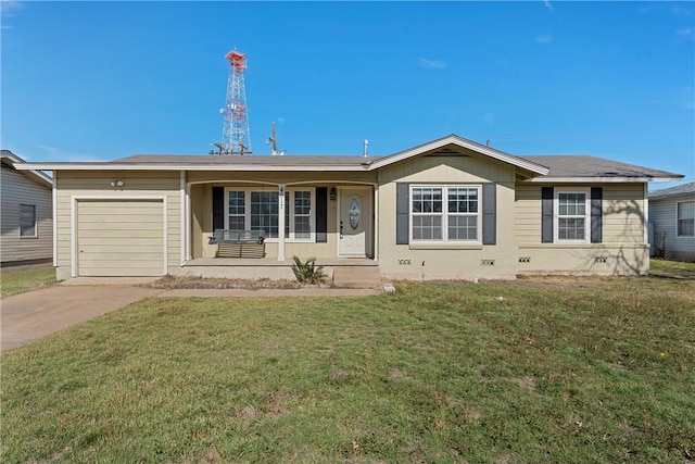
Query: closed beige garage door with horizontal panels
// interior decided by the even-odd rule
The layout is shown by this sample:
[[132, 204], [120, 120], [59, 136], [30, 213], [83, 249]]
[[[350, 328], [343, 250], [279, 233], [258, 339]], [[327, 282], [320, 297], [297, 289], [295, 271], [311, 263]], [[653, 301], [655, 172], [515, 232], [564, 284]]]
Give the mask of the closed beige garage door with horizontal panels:
[[162, 200], [77, 202], [77, 275], [161, 276]]

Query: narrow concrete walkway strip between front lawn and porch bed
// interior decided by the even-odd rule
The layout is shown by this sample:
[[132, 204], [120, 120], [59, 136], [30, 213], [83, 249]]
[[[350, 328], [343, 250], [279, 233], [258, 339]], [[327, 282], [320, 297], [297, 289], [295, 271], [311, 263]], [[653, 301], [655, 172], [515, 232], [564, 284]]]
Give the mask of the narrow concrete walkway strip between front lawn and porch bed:
[[263, 288], [257, 290], [248, 290], [241, 288], [229, 289], [177, 289], [164, 290], [157, 293], [159, 298], [254, 298], [254, 297], [369, 297], [382, 293], [382, 290], [371, 288]]

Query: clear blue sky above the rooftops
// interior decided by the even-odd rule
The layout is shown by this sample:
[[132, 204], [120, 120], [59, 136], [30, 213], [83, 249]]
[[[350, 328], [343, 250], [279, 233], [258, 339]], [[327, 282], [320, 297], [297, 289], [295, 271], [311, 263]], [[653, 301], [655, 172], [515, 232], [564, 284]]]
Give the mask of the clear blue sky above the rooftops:
[[693, 2], [2, 1], [1, 18], [1, 145], [30, 161], [207, 153], [236, 48], [256, 155], [276, 122], [288, 154], [456, 134], [695, 180]]

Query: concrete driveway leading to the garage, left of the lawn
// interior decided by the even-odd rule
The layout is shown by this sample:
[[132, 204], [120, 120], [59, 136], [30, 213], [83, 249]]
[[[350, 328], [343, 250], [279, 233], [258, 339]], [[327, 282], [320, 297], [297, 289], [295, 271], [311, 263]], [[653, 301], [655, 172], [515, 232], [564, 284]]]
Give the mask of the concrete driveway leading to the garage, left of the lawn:
[[0, 303], [0, 348], [28, 343], [157, 292], [130, 285], [59, 285], [5, 297]]

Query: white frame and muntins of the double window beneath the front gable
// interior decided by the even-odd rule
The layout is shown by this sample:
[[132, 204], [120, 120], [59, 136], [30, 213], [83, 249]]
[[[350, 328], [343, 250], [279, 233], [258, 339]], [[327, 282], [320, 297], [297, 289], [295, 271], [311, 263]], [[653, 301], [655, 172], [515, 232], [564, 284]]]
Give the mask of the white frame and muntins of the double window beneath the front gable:
[[[431, 216], [442, 217], [442, 238], [441, 239], [416, 239], [413, 238], [413, 217], [420, 215], [421, 213], [413, 212], [413, 199], [414, 191], [416, 189], [427, 189], [427, 188], [435, 188], [442, 190], [442, 212], [441, 213], [427, 213]], [[478, 211], [476, 213], [458, 213], [458, 212], [448, 212], [448, 189], [450, 188], [467, 188], [467, 189], [476, 189], [478, 192]], [[476, 239], [475, 240], [466, 240], [466, 239], [450, 239], [448, 238], [448, 216], [471, 216], [476, 217]], [[410, 184], [409, 189], [409, 201], [408, 201], [408, 238], [409, 242], [414, 244], [428, 244], [428, 243], [459, 243], [459, 244], [481, 244], [482, 243], [482, 186], [479, 184]]]

